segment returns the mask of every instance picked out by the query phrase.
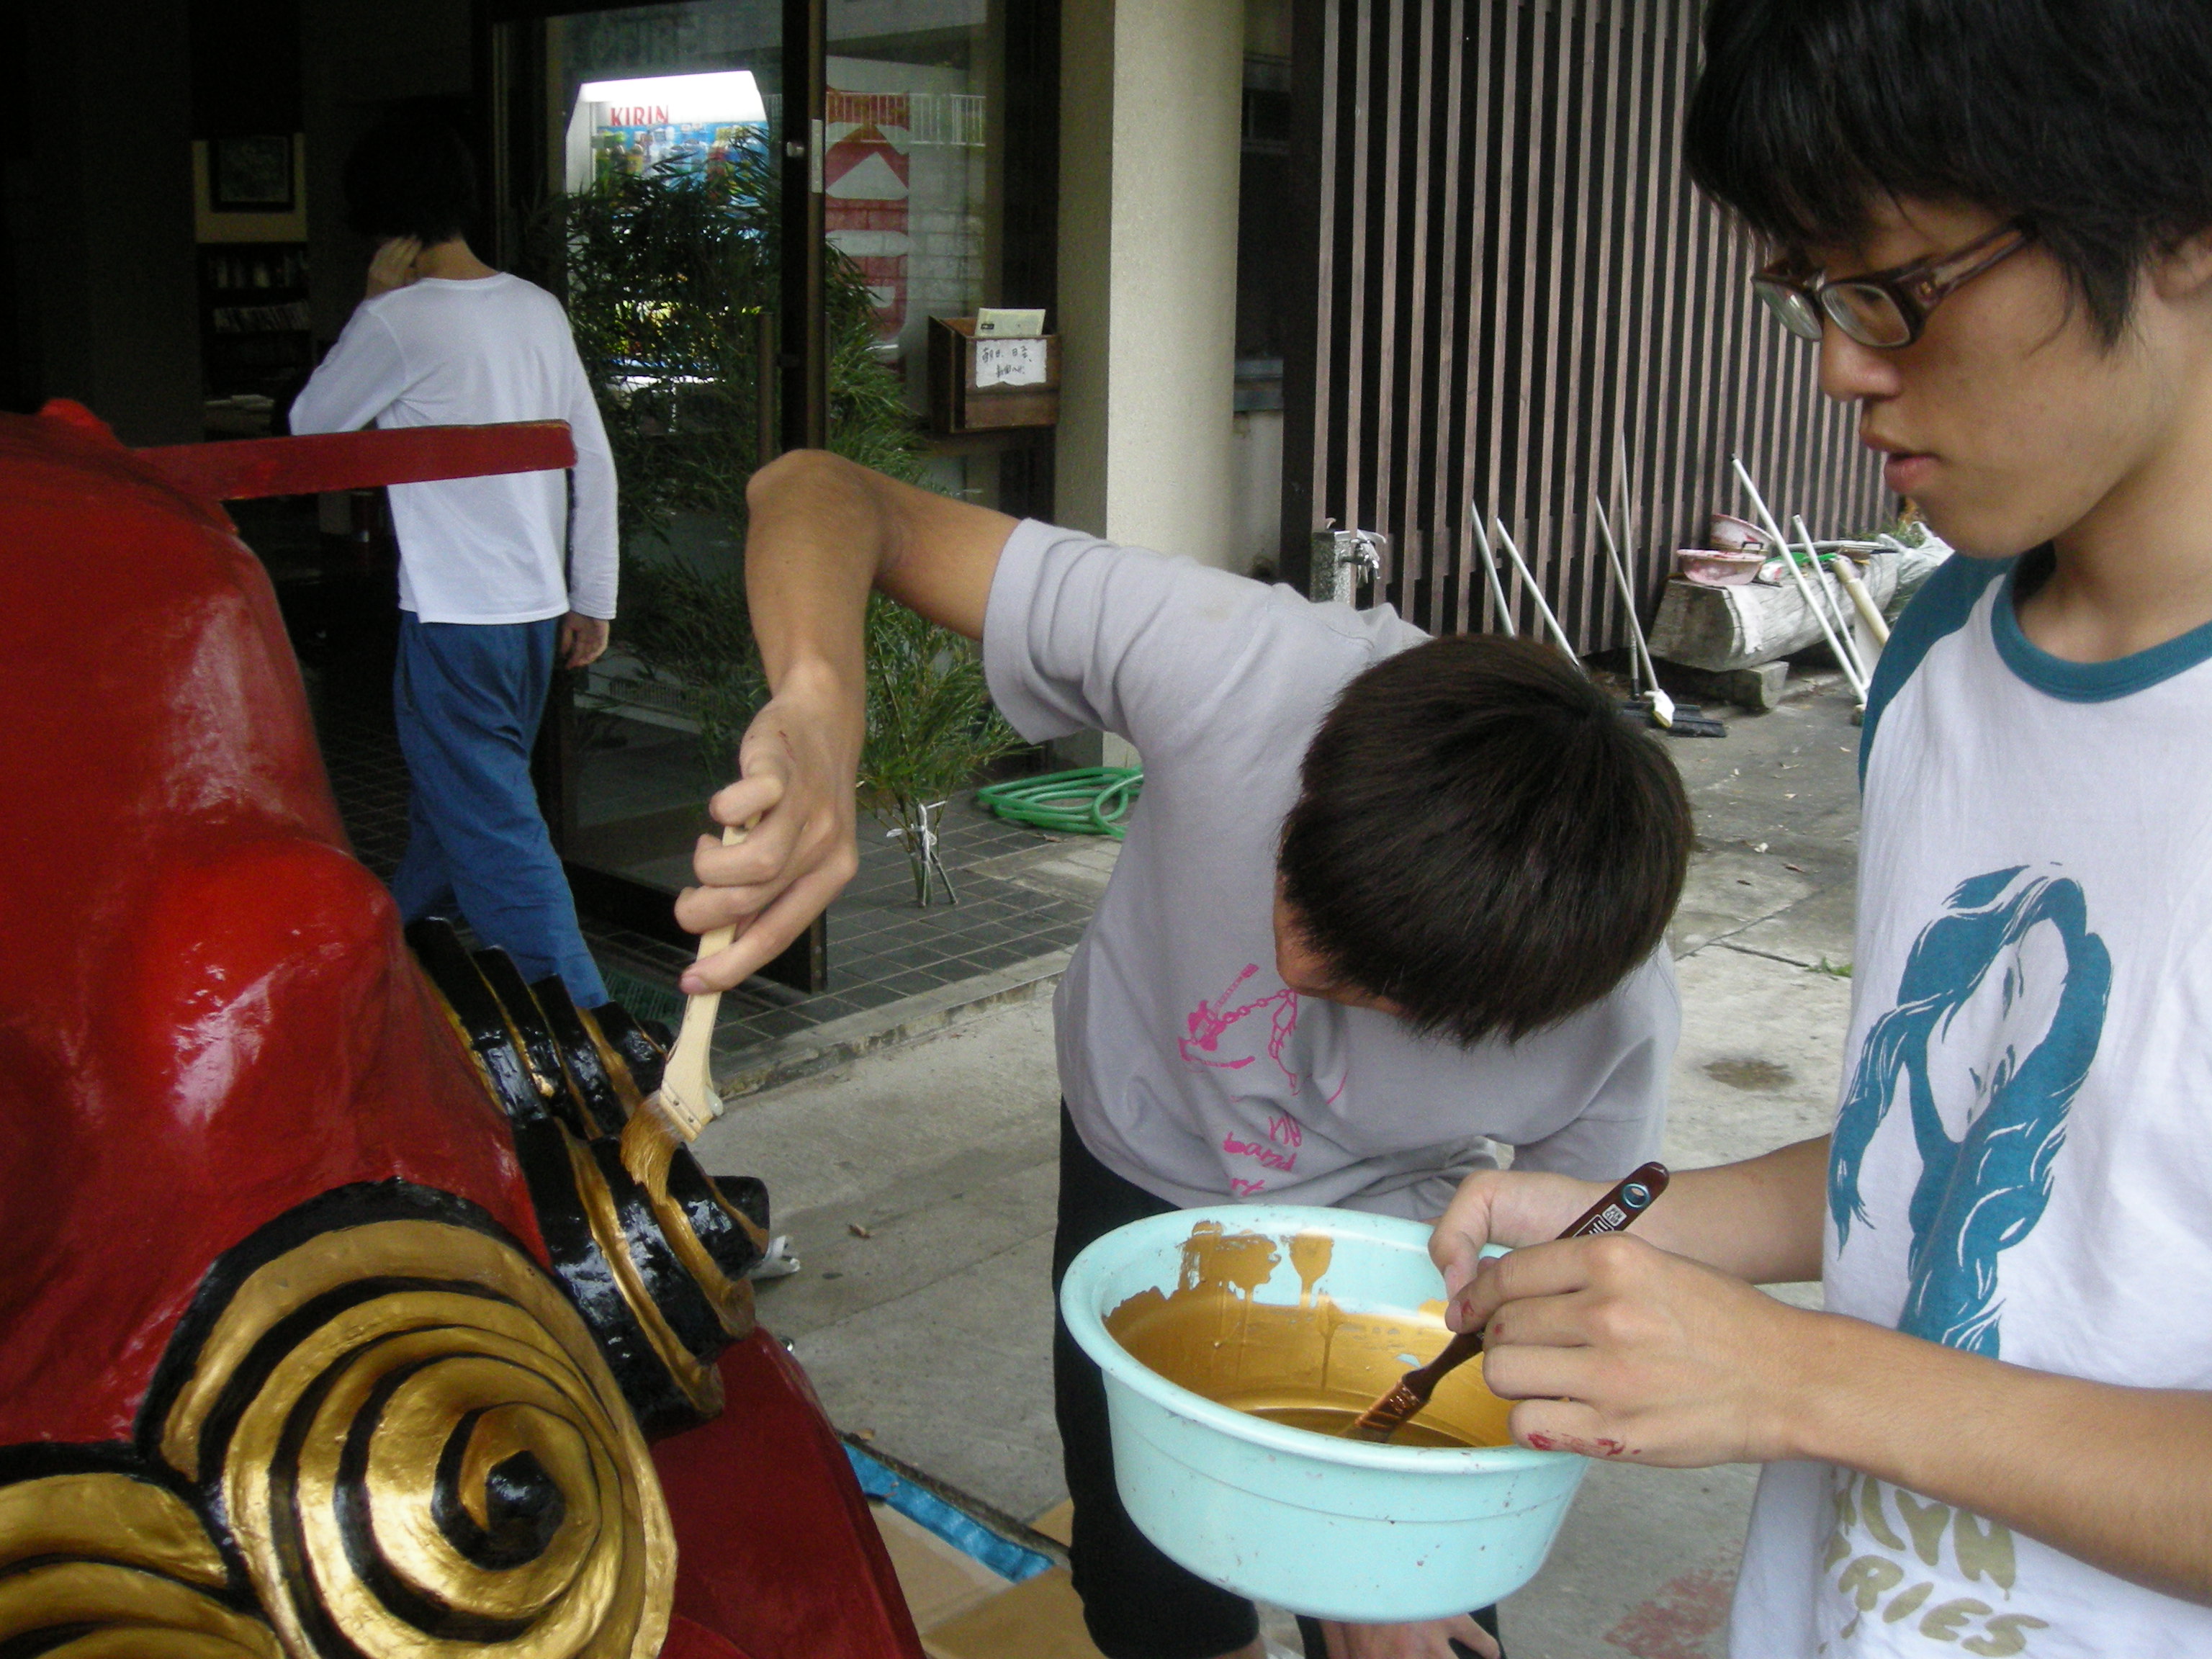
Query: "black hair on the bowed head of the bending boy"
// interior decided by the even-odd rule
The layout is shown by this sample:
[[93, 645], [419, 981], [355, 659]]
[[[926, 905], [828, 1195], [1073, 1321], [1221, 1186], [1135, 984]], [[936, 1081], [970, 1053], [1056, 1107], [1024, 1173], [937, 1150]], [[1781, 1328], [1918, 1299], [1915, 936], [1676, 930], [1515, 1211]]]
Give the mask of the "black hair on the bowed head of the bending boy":
[[1559, 653], [1460, 635], [1354, 679], [1283, 823], [1307, 945], [1469, 1044], [1597, 1002], [1666, 938], [1690, 803], [1666, 750]]

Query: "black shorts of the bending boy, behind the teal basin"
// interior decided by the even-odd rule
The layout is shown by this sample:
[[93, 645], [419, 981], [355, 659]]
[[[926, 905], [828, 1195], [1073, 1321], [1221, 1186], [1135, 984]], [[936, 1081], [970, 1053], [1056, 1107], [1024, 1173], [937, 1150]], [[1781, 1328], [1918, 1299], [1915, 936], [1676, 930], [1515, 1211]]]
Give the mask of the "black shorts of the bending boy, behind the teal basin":
[[[1113, 1438], [1106, 1425], [1106, 1385], [1099, 1367], [1068, 1336], [1060, 1318], [1060, 1281], [1084, 1245], [1115, 1228], [1179, 1206], [1108, 1170], [1060, 1108], [1060, 1230], [1053, 1239], [1053, 1413], [1075, 1500], [1068, 1559], [1084, 1624], [1106, 1659], [1214, 1659], [1259, 1635], [1259, 1615], [1232, 1595], [1183, 1571], [1137, 1531], [1113, 1482]], [[1498, 1635], [1498, 1610], [1475, 1621]], [[1325, 1659], [1321, 1628], [1298, 1619], [1310, 1659]]]

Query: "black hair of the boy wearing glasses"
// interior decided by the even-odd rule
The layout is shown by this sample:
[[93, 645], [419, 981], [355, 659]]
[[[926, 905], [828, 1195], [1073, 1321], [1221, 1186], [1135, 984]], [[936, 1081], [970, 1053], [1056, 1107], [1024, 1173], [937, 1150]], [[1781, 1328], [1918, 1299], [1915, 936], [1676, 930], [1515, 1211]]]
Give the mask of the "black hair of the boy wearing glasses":
[[1880, 197], [2024, 219], [2112, 345], [2143, 263], [2212, 226], [2212, 4], [1714, 0], [1683, 137], [1783, 248]]

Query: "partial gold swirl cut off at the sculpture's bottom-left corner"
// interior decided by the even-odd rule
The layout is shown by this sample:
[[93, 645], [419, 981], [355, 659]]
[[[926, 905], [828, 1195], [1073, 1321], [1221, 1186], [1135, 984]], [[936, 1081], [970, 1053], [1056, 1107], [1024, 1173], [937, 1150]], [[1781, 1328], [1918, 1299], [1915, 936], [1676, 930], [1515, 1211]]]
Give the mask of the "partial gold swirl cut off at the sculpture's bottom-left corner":
[[199, 1515], [161, 1484], [71, 1471], [0, 1486], [0, 1650], [283, 1659], [276, 1632], [223, 1588]]

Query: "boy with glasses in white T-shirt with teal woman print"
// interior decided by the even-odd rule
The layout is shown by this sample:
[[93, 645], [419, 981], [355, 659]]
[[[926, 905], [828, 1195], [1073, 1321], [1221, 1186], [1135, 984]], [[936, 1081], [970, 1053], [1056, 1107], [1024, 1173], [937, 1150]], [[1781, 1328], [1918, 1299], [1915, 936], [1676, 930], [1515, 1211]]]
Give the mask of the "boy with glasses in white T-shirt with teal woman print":
[[2212, 7], [1719, 0], [1688, 150], [1966, 557], [1867, 706], [1834, 1133], [1604, 1241], [1475, 1175], [1453, 1323], [1526, 1444], [1767, 1464], [1739, 1659], [2212, 1652]]

